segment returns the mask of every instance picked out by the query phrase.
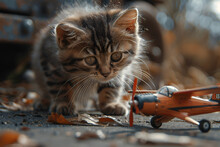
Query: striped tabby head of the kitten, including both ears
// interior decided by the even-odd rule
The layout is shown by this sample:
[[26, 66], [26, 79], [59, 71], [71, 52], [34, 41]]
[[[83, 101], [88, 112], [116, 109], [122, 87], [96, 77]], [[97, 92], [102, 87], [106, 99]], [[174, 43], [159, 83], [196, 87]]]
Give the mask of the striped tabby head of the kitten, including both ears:
[[138, 52], [138, 10], [68, 17], [55, 32], [59, 58], [67, 72], [107, 82], [130, 65]]

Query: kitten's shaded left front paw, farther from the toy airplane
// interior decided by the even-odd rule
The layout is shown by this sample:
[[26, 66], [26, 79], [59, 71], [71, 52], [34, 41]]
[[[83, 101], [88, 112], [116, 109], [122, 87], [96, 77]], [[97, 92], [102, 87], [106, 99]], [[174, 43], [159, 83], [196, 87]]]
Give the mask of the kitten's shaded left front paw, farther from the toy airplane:
[[67, 102], [53, 102], [50, 106], [50, 112], [56, 112], [63, 115], [72, 114]]

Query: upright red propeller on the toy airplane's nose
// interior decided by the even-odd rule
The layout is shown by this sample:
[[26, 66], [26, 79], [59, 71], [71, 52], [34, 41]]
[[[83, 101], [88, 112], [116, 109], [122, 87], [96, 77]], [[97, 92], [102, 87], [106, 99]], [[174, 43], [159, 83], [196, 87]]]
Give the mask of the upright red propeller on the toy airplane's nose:
[[130, 127], [133, 126], [133, 107], [135, 107], [135, 110], [136, 110], [136, 113], [139, 112], [139, 109], [137, 107], [137, 105], [135, 104], [134, 102], [134, 95], [135, 95], [135, 92], [136, 92], [136, 89], [137, 89], [137, 78], [134, 79], [134, 84], [133, 84], [133, 91], [132, 91], [132, 103], [131, 103], [131, 109], [130, 109], [130, 114], [129, 114], [129, 125]]

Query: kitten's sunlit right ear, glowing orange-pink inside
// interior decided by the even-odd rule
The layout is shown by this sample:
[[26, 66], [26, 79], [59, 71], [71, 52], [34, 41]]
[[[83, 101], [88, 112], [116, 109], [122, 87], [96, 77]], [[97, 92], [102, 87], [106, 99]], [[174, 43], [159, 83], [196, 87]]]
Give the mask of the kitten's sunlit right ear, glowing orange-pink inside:
[[138, 9], [133, 8], [123, 12], [114, 22], [113, 26], [126, 30], [129, 33], [136, 33], [138, 30]]

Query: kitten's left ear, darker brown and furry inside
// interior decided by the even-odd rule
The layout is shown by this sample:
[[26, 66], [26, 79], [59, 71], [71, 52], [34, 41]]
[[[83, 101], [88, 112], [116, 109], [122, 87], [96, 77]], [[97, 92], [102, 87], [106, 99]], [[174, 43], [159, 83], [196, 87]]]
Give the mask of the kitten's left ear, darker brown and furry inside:
[[79, 40], [85, 32], [70, 23], [58, 24], [55, 28], [58, 46], [67, 48], [73, 41]]

